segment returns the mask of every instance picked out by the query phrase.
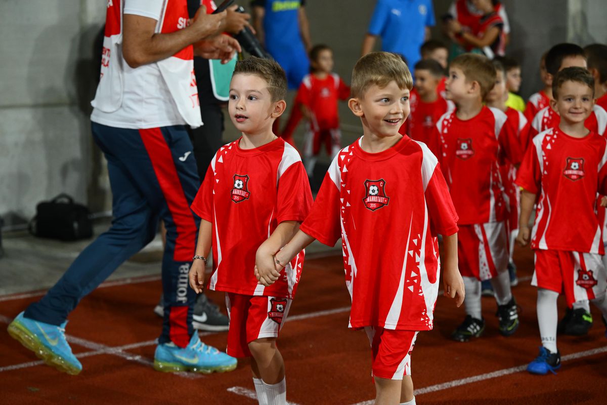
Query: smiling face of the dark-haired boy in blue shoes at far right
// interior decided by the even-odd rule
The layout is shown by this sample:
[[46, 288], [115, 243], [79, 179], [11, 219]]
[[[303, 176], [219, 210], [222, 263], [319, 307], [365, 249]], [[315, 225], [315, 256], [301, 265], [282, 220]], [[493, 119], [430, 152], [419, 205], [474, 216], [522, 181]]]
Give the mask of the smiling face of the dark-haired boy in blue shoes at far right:
[[583, 123], [594, 106], [593, 90], [579, 81], [565, 81], [558, 88], [556, 100], [552, 101], [553, 108], [566, 123]]

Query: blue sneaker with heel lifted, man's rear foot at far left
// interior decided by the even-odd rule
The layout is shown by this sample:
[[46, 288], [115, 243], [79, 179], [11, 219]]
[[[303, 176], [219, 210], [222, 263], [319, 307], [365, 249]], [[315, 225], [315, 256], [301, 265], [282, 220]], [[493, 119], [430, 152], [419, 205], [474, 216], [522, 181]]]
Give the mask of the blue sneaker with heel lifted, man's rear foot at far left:
[[76, 375], [82, 364], [72, 353], [66, 340], [66, 322], [61, 326], [46, 324], [25, 318], [21, 312], [8, 325], [8, 334], [19, 341], [49, 366], [59, 371]]

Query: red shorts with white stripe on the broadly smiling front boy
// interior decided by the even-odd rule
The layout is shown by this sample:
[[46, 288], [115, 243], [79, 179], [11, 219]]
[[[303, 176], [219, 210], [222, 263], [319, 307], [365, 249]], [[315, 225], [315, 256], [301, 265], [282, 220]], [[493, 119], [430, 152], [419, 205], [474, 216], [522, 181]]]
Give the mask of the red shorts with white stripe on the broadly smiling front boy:
[[402, 379], [411, 375], [411, 352], [418, 332], [365, 326], [371, 344], [371, 375], [385, 379]]

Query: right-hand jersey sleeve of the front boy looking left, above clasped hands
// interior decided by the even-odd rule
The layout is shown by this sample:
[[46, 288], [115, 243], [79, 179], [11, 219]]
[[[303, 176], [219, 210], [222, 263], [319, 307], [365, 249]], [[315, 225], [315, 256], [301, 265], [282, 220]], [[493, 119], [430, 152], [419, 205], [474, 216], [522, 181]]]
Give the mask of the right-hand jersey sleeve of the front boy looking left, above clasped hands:
[[312, 205], [310, 181], [301, 160], [297, 160], [282, 173], [279, 168], [276, 219], [278, 222], [304, 222]]

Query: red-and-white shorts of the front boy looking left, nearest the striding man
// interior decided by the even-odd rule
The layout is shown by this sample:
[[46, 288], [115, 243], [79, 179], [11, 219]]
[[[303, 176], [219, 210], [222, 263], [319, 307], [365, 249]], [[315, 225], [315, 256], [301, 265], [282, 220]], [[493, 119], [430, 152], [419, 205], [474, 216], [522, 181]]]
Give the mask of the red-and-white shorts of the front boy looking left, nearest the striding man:
[[226, 293], [229, 316], [226, 353], [232, 357], [249, 357], [249, 342], [277, 338], [292, 301], [288, 298]]

